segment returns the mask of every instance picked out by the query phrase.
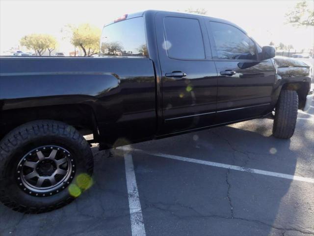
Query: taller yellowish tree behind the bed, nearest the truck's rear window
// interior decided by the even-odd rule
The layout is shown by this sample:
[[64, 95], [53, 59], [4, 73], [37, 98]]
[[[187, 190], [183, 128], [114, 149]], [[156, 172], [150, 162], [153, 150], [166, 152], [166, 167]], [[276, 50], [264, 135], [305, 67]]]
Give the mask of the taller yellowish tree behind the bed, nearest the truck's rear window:
[[80, 47], [84, 52], [84, 57], [90, 57], [99, 53], [99, 40], [101, 30], [90, 24], [79, 26], [67, 25], [71, 31], [71, 43], [75, 47]]

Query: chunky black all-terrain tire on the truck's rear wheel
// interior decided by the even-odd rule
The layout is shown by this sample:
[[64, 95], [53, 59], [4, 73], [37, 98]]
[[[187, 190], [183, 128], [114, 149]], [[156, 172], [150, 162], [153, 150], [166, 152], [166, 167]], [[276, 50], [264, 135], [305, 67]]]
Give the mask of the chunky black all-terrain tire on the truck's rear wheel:
[[[54, 192], [51, 191], [46, 196], [43, 193], [31, 192], [28, 189], [26, 190], [26, 187], [20, 186], [23, 184], [19, 181], [24, 176], [19, 176], [21, 174], [18, 173], [21, 171], [17, 171], [20, 170], [17, 168], [21, 168], [21, 161], [26, 161], [27, 157], [25, 155], [36, 156], [36, 151], [38, 151], [36, 148], [47, 147], [46, 150], [48, 150], [52, 146], [60, 148], [60, 150], [58, 149], [61, 152], [59, 155], [69, 156], [66, 158], [71, 159], [69, 159], [69, 162], [62, 164], [66, 166], [66, 170], [70, 170], [67, 171], [67, 173], [70, 173], [67, 174], [68, 180], [66, 182], [60, 181], [59, 185], [56, 184], [60, 188], [54, 189]], [[58, 153], [58, 150], [56, 150], [56, 153]], [[61, 150], [67, 150], [68, 152]], [[31, 154], [31, 151], [34, 154]], [[47, 156], [44, 158], [47, 158]], [[40, 159], [38, 159], [37, 163], [39, 162]], [[51, 162], [53, 164], [53, 161]], [[52, 166], [52, 164], [43, 164], [46, 165], [45, 170], [49, 170], [50, 166], [47, 168], [47, 165]], [[72, 169], [69, 169], [70, 167]], [[36, 169], [40, 168], [36, 167]], [[51, 169], [53, 172], [54, 169]], [[35, 172], [35, 167], [33, 172]], [[24, 213], [42, 213], [63, 207], [71, 203], [89, 187], [89, 183], [87, 183], [88, 187], [84, 183], [77, 185], [78, 177], [80, 177], [81, 182], [90, 181], [92, 173], [93, 155], [89, 144], [73, 126], [63, 122], [55, 120], [31, 121], [16, 127], [0, 141], [0, 202], [13, 210]], [[46, 174], [44, 177], [46, 177]], [[62, 176], [53, 175], [54, 180], [57, 177], [61, 178]], [[39, 176], [37, 179], [39, 179]], [[45, 182], [45, 184], [47, 183]], [[41, 187], [43, 184], [38, 186]]]

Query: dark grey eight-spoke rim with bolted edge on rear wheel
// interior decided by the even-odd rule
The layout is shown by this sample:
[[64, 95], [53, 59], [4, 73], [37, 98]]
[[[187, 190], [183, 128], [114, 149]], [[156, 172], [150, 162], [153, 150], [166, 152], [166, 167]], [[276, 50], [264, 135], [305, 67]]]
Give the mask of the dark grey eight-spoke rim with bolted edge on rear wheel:
[[48, 197], [64, 190], [75, 174], [75, 159], [71, 152], [47, 145], [27, 152], [17, 165], [15, 177], [26, 194]]

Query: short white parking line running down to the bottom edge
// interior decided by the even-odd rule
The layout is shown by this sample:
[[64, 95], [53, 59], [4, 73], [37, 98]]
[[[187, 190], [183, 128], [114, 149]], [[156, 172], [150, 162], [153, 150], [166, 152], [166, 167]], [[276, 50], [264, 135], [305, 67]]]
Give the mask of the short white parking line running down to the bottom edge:
[[132, 236], [146, 236], [142, 208], [139, 201], [134, 173], [133, 160], [130, 153], [124, 153], [124, 163], [126, 167]]

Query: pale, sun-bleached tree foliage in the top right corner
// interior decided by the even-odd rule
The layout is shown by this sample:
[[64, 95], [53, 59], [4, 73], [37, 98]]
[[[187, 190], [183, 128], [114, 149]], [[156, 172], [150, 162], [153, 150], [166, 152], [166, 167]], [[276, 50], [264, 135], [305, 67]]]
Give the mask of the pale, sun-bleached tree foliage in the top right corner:
[[293, 26], [314, 26], [314, 10], [305, 0], [298, 2], [293, 10], [286, 13], [286, 18]]

